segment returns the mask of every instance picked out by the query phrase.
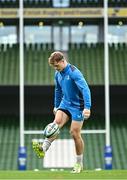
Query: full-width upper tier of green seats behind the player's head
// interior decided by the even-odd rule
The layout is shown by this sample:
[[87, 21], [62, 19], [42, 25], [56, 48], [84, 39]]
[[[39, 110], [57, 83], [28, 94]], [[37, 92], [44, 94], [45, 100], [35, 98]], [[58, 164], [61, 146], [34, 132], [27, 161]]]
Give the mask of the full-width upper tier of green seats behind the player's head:
[[[48, 65], [53, 44], [25, 44], [25, 84], [52, 85], [54, 70]], [[18, 45], [0, 46], [0, 84], [19, 83]], [[47, 50], [48, 49], [48, 50]], [[109, 45], [110, 84], [127, 84], [127, 45]], [[86, 76], [89, 84], [104, 84], [104, 47], [98, 44], [69, 44], [68, 60]]]

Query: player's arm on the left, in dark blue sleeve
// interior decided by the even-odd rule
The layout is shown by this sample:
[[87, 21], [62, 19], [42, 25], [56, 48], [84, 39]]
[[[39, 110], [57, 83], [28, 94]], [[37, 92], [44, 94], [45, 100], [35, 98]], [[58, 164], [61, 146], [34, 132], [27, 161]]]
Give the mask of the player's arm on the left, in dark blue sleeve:
[[62, 99], [62, 90], [58, 82], [57, 73], [55, 74], [55, 94], [54, 94], [54, 113], [60, 105]]

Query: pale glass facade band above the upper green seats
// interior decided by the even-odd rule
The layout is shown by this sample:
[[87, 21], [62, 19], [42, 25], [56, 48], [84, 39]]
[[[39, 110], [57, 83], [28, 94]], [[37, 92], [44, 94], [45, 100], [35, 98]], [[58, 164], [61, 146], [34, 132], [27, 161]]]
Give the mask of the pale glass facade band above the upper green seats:
[[[103, 29], [101, 30], [103, 34]], [[127, 43], [127, 25], [108, 27], [109, 43]], [[100, 41], [98, 25], [27, 25], [24, 27], [25, 43], [53, 43], [56, 50], [68, 50], [69, 43], [97, 43]], [[0, 44], [15, 44], [18, 42], [18, 28], [0, 24]]]

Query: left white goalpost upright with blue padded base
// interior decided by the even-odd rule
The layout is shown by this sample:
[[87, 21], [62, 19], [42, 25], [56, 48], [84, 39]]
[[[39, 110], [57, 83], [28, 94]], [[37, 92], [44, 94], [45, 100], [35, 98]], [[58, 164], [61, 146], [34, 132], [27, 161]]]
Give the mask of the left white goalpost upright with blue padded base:
[[23, 38], [23, 0], [19, 1], [19, 54], [20, 54], [20, 146], [18, 152], [18, 169], [26, 169], [26, 148], [24, 146], [24, 38]]

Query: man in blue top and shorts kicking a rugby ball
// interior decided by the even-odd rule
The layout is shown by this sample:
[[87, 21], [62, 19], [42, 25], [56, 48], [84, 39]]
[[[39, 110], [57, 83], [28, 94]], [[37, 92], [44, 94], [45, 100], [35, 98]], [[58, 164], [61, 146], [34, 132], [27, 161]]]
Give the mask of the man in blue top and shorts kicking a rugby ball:
[[[84, 141], [81, 137], [81, 129], [86, 119], [90, 117], [91, 94], [88, 84], [80, 70], [70, 64], [64, 54], [53, 52], [49, 59], [49, 65], [55, 72], [55, 100], [53, 124], [61, 129], [68, 121], [71, 121], [70, 133], [74, 139], [76, 150], [76, 162], [72, 173], [80, 173], [83, 170]], [[54, 125], [55, 126], [55, 125]], [[51, 130], [53, 127], [51, 127]], [[53, 130], [52, 130], [53, 131]], [[43, 158], [51, 143], [57, 138], [46, 137], [43, 144], [33, 142], [33, 149], [38, 157]]]

